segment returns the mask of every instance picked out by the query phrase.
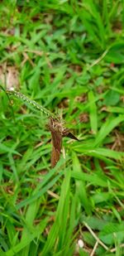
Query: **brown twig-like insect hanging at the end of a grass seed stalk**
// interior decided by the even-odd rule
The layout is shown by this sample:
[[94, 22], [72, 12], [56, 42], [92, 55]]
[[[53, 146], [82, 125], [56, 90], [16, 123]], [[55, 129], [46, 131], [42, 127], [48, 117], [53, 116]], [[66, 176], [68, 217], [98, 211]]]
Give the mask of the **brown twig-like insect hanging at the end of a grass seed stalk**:
[[51, 133], [52, 141], [52, 153], [51, 153], [51, 167], [55, 167], [56, 163], [60, 159], [60, 150], [62, 147], [62, 138], [69, 137], [75, 140], [79, 140], [72, 133], [69, 132], [68, 128], [64, 128], [63, 124], [54, 118], [50, 118], [48, 128]]

